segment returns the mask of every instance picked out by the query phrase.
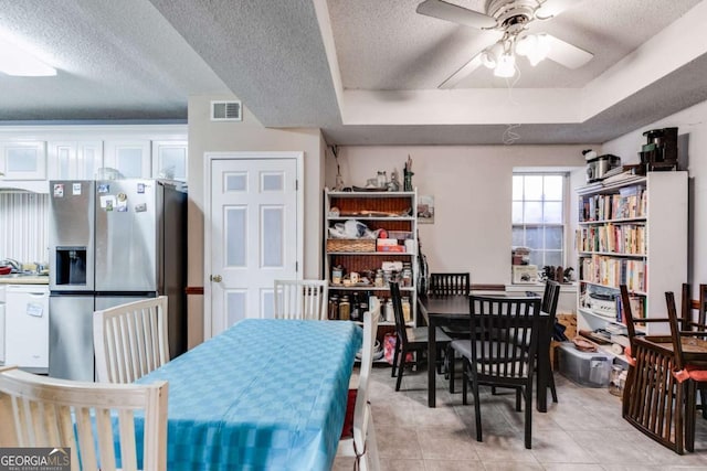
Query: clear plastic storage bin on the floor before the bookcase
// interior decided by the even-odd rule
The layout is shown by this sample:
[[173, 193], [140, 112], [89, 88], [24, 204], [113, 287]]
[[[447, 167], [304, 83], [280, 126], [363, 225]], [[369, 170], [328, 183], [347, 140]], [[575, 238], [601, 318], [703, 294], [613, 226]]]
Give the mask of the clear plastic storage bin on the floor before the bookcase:
[[605, 352], [581, 352], [572, 342], [558, 346], [560, 373], [582, 386], [609, 386], [613, 360], [613, 355]]

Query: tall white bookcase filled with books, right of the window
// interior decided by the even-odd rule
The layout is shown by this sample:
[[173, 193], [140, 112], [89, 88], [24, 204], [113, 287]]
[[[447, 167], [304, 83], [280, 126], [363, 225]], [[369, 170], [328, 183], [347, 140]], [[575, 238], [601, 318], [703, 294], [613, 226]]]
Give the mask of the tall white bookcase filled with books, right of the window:
[[[620, 335], [622, 283], [634, 317], [665, 317], [665, 291], [677, 295], [687, 280], [687, 172], [648, 172], [577, 193], [578, 328]], [[662, 334], [668, 325], [644, 330]]]

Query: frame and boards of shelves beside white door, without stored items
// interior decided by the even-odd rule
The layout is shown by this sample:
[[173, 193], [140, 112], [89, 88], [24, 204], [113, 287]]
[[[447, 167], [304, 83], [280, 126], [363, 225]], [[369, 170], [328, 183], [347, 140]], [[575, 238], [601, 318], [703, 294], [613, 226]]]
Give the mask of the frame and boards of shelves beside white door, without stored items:
[[[383, 286], [376, 286], [371, 274], [381, 269], [386, 261], [400, 261], [410, 264], [410, 285], [401, 285], [401, 295], [410, 298], [410, 324], [416, 322], [416, 279], [418, 279], [418, 218], [416, 218], [418, 194], [412, 192], [337, 192], [327, 191], [325, 194], [325, 277], [329, 280], [329, 296], [352, 296], [363, 293], [376, 296], [379, 299], [389, 298], [388, 282]], [[329, 228], [336, 224], [346, 223], [348, 220], [356, 220], [366, 224], [369, 229], [386, 229], [389, 236], [405, 235], [409, 238], [400, 238], [398, 247], [405, 247], [404, 240], [410, 240], [405, 251], [379, 251], [374, 239], [361, 242], [360, 239], [341, 240], [333, 239]], [[338, 240], [338, 242], [335, 242]], [[347, 249], [347, 246], [356, 246], [355, 250]], [[402, 250], [404, 248], [395, 248]], [[345, 277], [348, 274], [357, 272], [361, 277], [369, 279], [368, 283], [357, 283], [345, 286], [333, 281], [333, 268], [342, 267]], [[379, 325], [391, 327], [392, 306], [389, 307], [390, 314], [387, 320], [381, 320]]]

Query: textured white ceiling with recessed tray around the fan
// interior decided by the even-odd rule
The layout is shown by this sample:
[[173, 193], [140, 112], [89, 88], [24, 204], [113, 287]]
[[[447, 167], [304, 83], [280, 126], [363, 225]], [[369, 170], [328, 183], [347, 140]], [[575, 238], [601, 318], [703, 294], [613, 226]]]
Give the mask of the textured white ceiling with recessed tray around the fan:
[[[266, 127], [338, 144], [595, 143], [707, 99], [707, 6], [581, 0], [545, 31], [594, 54], [437, 86], [492, 33], [415, 13], [421, 0], [0, 0], [0, 34], [56, 77], [0, 74], [0, 122], [186, 119], [190, 95], [232, 93]], [[484, 11], [483, 0], [454, 3]]]

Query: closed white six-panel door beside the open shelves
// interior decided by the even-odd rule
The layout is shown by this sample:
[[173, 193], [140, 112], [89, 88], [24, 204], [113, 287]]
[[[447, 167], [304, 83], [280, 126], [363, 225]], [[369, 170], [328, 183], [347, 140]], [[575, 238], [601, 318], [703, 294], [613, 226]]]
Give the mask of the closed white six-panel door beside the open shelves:
[[207, 336], [244, 318], [272, 317], [274, 280], [297, 278], [300, 244], [297, 159], [215, 159], [210, 176]]

